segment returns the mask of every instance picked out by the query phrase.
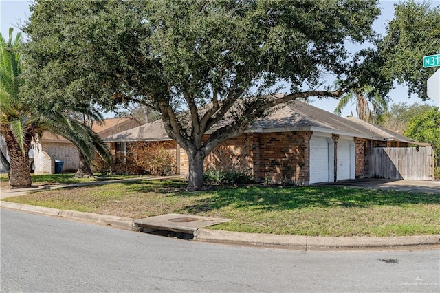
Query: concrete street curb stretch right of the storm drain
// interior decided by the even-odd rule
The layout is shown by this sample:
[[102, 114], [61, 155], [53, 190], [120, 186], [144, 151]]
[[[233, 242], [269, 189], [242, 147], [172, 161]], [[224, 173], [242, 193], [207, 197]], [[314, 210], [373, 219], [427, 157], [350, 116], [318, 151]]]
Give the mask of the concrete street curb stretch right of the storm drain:
[[402, 246], [438, 246], [440, 235], [405, 237], [322, 237], [241, 233], [200, 228], [194, 240], [254, 246], [281, 246], [297, 249], [313, 248], [396, 248]]

